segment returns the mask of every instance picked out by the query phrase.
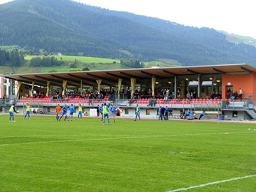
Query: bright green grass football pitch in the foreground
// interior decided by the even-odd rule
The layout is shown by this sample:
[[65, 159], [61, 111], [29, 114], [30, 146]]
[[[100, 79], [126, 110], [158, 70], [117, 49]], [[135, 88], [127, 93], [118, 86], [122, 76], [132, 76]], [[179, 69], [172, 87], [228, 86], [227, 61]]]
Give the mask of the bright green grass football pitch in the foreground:
[[15, 120], [0, 116], [0, 191], [256, 190], [255, 124]]

